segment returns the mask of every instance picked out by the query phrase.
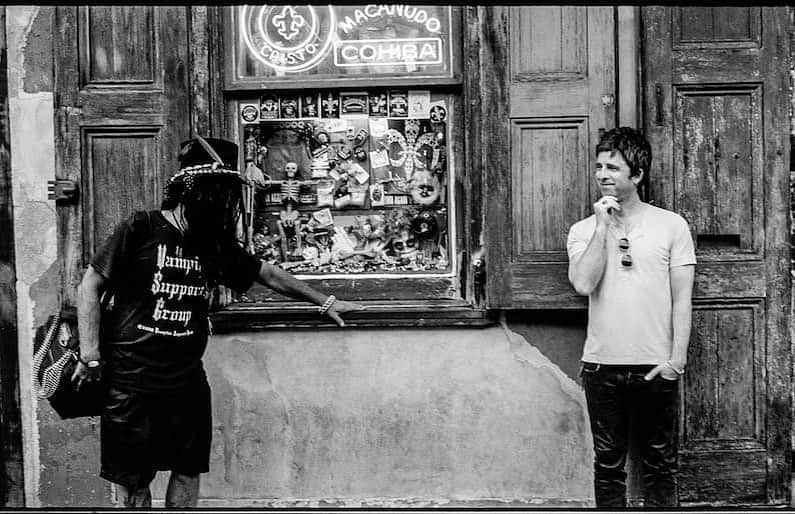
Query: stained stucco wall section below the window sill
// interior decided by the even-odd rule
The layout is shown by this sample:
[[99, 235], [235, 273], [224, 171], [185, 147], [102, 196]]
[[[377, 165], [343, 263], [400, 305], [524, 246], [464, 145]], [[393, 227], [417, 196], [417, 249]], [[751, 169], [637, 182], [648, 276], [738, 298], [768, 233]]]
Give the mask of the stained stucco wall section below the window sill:
[[502, 326], [236, 334], [205, 367], [209, 504], [590, 501], [582, 390]]

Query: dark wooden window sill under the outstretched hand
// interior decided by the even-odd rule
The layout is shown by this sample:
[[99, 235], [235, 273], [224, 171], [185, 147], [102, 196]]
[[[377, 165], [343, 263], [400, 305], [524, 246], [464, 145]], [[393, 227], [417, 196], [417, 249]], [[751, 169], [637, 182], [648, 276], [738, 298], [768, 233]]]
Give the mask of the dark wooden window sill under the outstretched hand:
[[[463, 301], [361, 301], [365, 310], [343, 316], [345, 327], [485, 327], [488, 311]], [[232, 304], [212, 316], [213, 332], [223, 334], [270, 328], [332, 328], [317, 307], [297, 302]]]

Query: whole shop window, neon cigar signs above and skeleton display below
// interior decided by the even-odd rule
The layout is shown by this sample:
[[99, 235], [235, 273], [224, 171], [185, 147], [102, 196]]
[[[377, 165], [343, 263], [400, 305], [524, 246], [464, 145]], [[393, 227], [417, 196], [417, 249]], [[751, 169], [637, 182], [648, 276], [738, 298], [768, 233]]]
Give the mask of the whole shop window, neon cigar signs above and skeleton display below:
[[346, 298], [466, 303], [460, 9], [225, 11], [249, 251]]

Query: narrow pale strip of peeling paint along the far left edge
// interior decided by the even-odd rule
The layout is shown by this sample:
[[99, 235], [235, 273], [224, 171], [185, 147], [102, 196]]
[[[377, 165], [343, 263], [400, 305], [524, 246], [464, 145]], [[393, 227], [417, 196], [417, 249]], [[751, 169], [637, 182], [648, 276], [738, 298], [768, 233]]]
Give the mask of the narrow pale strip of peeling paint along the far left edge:
[[[34, 311], [40, 304], [51, 305], [57, 290], [37, 291], [34, 296], [31, 289], [50, 272], [56, 260], [55, 213], [47, 203], [47, 180], [53, 177], [55, 150], [53, 97], [51, 92], [43, 91], [51, 89], [51, 80], [48, 84], [44, 78], [52, 76], [51, 58], [38, 63], [26, 59], [46, 53], [47, 45], [51, 45], [52, 27], [48, 27], [51, 8], [8, 6], [5, 9], [25, 505], [38, 507], [38, 412], [32, 387], [27, 385], [32, 384], [31, 357], [37, 326]], [[45, 16], [40, 18], [42, 12]], [[30, 53], [26, 55], [28, 50]], [[40, 74], [26, 82], [28, 73], [31, 77]], [[26, 92], [26, 87], [35, 92]]]

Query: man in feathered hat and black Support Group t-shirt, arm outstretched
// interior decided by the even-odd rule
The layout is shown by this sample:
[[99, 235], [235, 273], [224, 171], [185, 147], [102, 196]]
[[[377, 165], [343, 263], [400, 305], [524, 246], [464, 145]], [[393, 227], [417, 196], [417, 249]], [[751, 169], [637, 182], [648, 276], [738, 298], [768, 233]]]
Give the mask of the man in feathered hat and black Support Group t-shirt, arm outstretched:
[[[72, 380], [102, 380], [100, 476], [125, 506], [150, 507], [149, 484], [170, 470], [167, 507], [196, 506], [212, 435], [210, 389], [202, 366], [209, 298], [216, 286], [247, 290], [258, 281], [340, 314], [363, 307], [327, 296], [237, 241], [242, 178], [237, 145], [197, 137], [183, 143], [180, 170], [161, 210], [120, 223], [94, 256], [78, 291], [80, 363]], [[100, 297], [112, 295], [102, 313]]]

